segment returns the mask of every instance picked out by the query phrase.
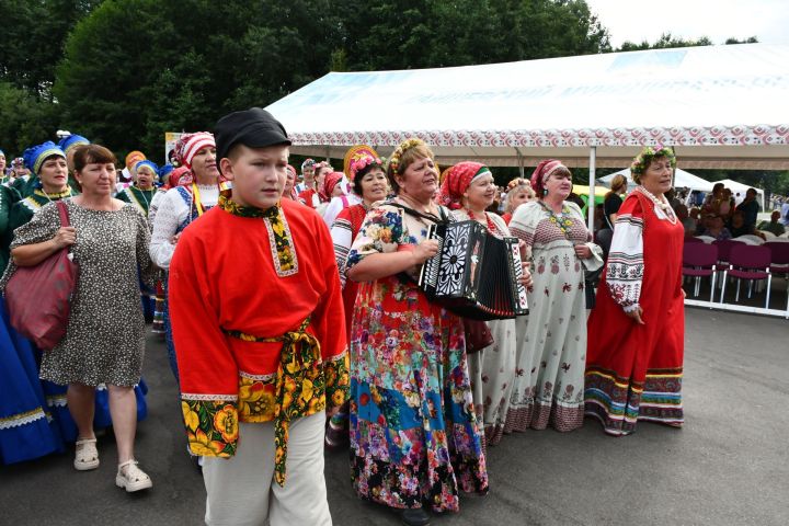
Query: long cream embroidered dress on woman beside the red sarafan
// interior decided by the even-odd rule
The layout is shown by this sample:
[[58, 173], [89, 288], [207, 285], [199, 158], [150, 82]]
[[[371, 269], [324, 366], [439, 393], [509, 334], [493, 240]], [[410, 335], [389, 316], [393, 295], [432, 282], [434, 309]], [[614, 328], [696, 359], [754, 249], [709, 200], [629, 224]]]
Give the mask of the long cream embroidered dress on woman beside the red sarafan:
[[583, 424], [586, 305], [584, 264], [574, 245], [590, 245], [595, 258], [585, 264], [591, 267], [602, 265], [602, 251], [588, 243], [578, 205], [565, 202], [564, 210], [554, 216], [540, 202], [526, 203], [510, 221], [512, 233], [530, 249], [533, 285], [529, 316], [516, 320], [515, 385], [506, 432], [544, 430], [549, 423], [558, 431], [572, 431]]

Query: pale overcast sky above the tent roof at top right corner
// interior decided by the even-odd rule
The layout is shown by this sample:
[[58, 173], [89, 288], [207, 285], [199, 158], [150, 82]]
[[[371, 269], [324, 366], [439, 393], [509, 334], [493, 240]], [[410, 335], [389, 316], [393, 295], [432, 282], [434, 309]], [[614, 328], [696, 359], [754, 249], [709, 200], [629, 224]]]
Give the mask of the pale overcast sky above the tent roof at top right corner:
[[756, 36], [765, 44], [789, 44], [789, 0], [586, 0], [610, 34], [625, 41], [655, 42], [661, 34], [683, 38]]

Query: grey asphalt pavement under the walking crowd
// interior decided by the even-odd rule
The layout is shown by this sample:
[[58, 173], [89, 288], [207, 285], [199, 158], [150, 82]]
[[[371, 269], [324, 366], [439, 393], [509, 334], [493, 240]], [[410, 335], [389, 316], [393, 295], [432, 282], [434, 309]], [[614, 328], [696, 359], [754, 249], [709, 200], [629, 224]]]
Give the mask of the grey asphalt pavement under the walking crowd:
[[[696, 308], [686, 317], [684, 428], [639, 423], [614, 438], [587, 419], [572, 433], [505, 436], [489, 449], [490, 494], [433, 524], [789, 524], [789, 321]], [[137, 458], [153, 488], [115, 487], [110, 434], [94, 471], [75, 471], [71, 454], [0, 466], [0, 525], [203, 524], [205, 489], [186, 454], [164, 345], [148, 344]], [[355, 496], [347, 454], [327, 454], [325, 477], [334, 524], [400, 524]]]

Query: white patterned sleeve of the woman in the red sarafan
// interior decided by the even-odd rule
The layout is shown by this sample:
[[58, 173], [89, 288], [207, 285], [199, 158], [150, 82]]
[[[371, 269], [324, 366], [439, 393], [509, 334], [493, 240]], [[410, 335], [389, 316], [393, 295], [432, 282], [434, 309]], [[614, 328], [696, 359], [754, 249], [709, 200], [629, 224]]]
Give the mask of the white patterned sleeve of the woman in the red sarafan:
[[643, 210], [633, 195], [619, 208], [606, 267], [608, 291], [625, 312], [639, 308], [643, 271]]

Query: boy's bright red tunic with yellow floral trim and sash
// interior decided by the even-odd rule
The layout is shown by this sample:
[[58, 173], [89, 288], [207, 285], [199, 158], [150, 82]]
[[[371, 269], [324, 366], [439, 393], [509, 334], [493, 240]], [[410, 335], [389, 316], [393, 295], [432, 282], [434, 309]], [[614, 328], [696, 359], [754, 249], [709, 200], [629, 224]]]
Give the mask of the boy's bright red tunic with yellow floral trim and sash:
[[220, 198], [184, 230], [169, 285], [192, 451], [230, 457], [238, 421], [274, 421], [284, 483], [287, 422], [342, 405], [348, 365], [329, 230], [312, 209], [279, 206], [242, 217]]

